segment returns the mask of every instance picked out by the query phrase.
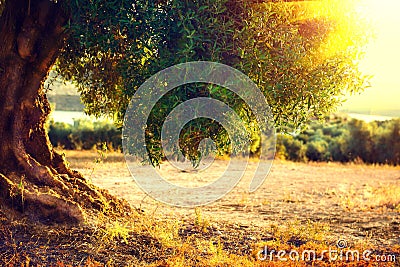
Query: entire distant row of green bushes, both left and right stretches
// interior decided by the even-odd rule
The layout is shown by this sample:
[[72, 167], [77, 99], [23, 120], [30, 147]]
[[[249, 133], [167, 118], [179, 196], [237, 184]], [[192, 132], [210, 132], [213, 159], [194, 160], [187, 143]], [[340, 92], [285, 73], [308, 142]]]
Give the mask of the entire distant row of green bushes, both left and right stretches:
[[[121, 130], [106, 121], [51, 121], [49, 136], [64, 149], [103, 147], [121, 150]], [[312, 121], [305, 131], [279, 134], [276, 157], [291, 161], [337, 161], [400, 164], [400, 119], [364, 122], [334, 116]]]

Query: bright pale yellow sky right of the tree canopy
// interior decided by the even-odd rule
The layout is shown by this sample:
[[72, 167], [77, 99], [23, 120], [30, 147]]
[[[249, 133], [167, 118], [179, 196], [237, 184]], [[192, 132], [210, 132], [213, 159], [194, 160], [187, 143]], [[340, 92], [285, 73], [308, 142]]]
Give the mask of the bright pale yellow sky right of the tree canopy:
[[360, 65], [373, 78], [371, 87], [350, 96], [341, 109], [384, 115], [382, 110], [400, 110], [400, 1], [364, 0], [361, 10], [371, 17], [376, 31]]

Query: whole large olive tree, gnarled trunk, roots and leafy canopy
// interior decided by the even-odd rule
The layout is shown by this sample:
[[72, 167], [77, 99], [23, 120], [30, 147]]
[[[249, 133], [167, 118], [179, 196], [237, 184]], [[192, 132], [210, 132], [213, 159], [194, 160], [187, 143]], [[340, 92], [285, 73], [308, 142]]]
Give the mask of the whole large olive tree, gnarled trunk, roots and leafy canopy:
[[[1, 207], [69, 222], [82, 221], [85, 209], [129, 211], [71, 170], [51, 146], [43, 83], [52, 68], [78, 86], [87, 113], [109, 114], [117, 122], [148, 77], [193, 60], [225, 63], [248, 75], [282, 131], [329, 113], [345, 92], [365, 87], [357, 67], [365, 38], [324, 3], [0, 0]], [[350, 11], [341, 13], [350, 19]], [[342, 40], [335, 44], [336, 37]], [[251, 122], [251, 112], [231, 91], [194, 85], [165, 96], [149, 129], [157, 132], [177, 103], [204, 95], [225, 101]], [[221, 147], [229, 143], [215, 123], [202, 127]], [[157, 144], [157, 138], [148, 142]]]

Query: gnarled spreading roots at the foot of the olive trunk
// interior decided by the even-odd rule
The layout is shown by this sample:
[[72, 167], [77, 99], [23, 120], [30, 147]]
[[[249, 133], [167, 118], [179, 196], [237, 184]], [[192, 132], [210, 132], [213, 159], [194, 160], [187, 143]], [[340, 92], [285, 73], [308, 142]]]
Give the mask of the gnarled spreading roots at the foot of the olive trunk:
[[20, 215], [42, 223], [81, 223], [85, 221], [85, 211], [89, 210], [119, 217], [133, 212], [126, 201], [81, 179], [66, 175], [58, 175], [58, 179], [64, 179], [68, 190], [38, 186], [16, 173], [0, 174], [1, 197]]

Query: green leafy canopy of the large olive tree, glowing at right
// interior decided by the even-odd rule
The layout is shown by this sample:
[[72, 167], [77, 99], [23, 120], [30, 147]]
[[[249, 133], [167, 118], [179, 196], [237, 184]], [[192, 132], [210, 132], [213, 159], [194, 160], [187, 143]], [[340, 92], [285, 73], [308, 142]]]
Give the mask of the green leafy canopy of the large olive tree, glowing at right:
[[[129, 99], [148, 77], [181, 62], [217, 61], [244, 72], [266, 96], [283, 132], [322, 118], [340, 104], [345, 92], [358, 92], [366, 85], [357, 60], [369, 35], [360, 28], [362, 23], [353, 23], [359, 18], [352, 1], [67, 3], [70, 35], [57, 71], [78, 85], [86, 112], [106, 113], [119, 123]], [[244, 102], [225, 88], [178, 87], [157, 103], [148, 120], [146, 137], [155, 163], [162, 158], [160, 126], [165, 114], [199, 96], [224, 101], [249, 125], [254, 120]], [[256, 140], [257, 132], [249, 130]], [[226, 132], [215, 122], [199, 126], [193, 121], [185, 132], [197, 134], [191, 147], [211, 136], [220, 141], [220, 151], [229, 150]], [[196, 151], [188, 153], [197, 157]]]

